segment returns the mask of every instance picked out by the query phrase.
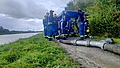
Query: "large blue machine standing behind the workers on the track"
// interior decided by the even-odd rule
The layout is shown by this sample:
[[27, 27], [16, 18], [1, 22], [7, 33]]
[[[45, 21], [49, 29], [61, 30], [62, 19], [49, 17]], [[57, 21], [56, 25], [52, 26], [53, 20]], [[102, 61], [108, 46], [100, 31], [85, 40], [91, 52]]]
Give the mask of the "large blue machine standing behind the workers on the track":
[[[79, 30], [78, 28], [78, 25], [77, 25], [77, 18], [78, 18], [78, 11], [73, 11], [73, 10], [65, 10], [65, 11], [62, 11], [59, 15], [58, 15], [58, 18], [59, 18], [59, 21], [61, 21], [62, 19], [64, 19], [64, 16], [66, 17], [66, 21], [68, 22], [68, 27], [66, 28], [67, 29], [67, 35], [76, 35], [78, 33], [78, 31], [75, 31], [74, 29], [74, 26], [76, 26], [77, 30]], [[66, 39], [65, 36], [61, 36], [60, 35], [60, 38], [64, 38]]]

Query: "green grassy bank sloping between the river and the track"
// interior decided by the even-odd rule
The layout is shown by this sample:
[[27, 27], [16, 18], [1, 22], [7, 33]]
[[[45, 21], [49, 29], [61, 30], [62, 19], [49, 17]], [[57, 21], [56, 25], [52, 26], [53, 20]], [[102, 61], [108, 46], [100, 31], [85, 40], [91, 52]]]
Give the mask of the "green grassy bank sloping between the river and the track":
[[80, 68], [42, 34], [0, 46], [0, 68]]

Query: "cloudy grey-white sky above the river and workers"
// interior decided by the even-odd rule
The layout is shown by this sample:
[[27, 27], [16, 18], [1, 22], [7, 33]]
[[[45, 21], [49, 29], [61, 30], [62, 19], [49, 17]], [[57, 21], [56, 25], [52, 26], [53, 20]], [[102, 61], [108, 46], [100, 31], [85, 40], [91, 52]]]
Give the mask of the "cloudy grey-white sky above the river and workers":
[[46, 12], [59, 14], [70, 0], [0, 0], [0, 26], [9, 30], [43, 30]]

